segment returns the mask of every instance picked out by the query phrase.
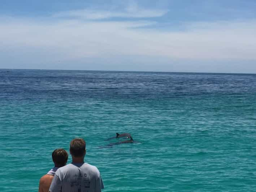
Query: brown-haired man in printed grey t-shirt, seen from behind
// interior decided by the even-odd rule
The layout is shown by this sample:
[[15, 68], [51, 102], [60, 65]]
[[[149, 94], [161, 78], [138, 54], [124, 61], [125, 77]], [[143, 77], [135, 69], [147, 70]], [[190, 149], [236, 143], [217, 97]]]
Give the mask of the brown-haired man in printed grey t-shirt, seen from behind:
[[97, 167], [83, 161], [85, 145], [83, 139], [73, 139], [70, 142], [72, 163], [56, 171], [50, 192], [101, 192], [104, 188]]

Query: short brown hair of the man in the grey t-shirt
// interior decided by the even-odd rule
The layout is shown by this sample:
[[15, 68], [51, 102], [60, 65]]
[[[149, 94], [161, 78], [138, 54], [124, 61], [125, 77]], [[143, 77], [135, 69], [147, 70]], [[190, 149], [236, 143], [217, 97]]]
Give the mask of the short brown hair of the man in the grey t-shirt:
[[80, 138], [73, 139], [70, 142], [70, 153], [74, 157], [82, 157], [85, 152], [85, 146], [86, 146], [86, 144], [83, 139], [80, 139]]

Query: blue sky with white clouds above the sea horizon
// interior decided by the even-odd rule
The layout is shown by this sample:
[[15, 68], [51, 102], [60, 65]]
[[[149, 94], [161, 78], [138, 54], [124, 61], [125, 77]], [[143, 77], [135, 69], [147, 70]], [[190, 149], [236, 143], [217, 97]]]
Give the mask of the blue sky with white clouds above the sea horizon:
[[0, 0], [0, 69], [256, 73], [255, 0]]

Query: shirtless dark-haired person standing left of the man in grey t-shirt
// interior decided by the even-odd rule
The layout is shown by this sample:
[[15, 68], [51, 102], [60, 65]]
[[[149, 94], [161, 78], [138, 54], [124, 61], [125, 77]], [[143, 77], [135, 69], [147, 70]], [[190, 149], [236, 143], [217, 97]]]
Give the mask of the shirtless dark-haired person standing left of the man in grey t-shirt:
[[55, 149], [52, 152], [52, 161], [55, 167], [41, 177], [38, 192], [49, 192], [55, 172], [58, 168], [65, 166], [68, 161], [68, 153], [64, 149]]

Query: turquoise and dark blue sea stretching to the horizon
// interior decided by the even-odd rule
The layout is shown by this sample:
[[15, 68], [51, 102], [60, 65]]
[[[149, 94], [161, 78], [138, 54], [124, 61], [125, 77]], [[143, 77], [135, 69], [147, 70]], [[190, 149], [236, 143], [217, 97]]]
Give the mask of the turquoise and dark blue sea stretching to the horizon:
[[[0, 70], [0, 191], [37, 191], [75, 137], [104, 192], [256, 191], [255, 101], [252, 74]], [[99, 147], [116, 132], [139, 142]]]

